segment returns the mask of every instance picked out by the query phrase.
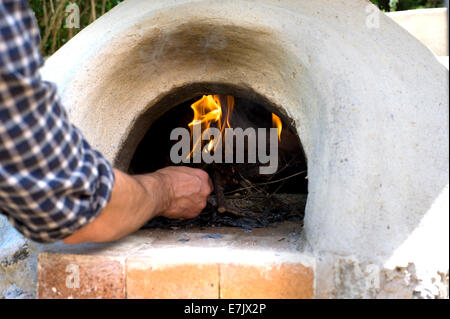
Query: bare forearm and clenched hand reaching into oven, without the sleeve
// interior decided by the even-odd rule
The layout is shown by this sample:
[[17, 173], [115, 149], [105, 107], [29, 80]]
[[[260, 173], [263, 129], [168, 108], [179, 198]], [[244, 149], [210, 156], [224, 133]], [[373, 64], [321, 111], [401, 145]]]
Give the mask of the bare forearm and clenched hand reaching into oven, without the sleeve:
[[208, 175], [188, 167], [167, 167], [130, 176], [114, 170], [111, 200], [90, 224], [63, 240], [66, 244], [120, 239], [156, 216], [193, 218], [212, 191]]

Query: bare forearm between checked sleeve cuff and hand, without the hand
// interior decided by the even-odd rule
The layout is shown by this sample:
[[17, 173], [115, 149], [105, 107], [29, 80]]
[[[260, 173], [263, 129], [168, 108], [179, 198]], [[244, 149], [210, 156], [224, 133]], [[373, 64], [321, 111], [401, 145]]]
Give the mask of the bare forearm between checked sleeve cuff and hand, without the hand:
[[108, 242], [138, 230], [163, 209], [168, 196], [158, 178], [146, 176], [148, 192], [140, 176], [114, 170], [115, 184], [108, 205], [91, 223], [63, 240], [66, 244]]

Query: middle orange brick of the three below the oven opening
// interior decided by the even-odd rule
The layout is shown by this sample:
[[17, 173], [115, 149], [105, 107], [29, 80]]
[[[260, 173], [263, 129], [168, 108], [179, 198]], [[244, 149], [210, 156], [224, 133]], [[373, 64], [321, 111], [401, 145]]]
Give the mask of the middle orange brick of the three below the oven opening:
[[151, 260], [127, 260], [127, 298], [217, 299], [217, 264], [155, 265]]

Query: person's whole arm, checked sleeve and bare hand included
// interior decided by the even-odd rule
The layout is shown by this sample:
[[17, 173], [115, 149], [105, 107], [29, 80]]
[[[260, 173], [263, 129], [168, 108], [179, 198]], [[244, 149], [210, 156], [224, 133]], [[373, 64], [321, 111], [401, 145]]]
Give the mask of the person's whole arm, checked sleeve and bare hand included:
[[113, 170], [42, 81], [39, 30], [26, 0], [0, 1], [0, 213], [42, 243], [111, 241], [164, 215], [189, 218], [210, 192], [203, 171]]

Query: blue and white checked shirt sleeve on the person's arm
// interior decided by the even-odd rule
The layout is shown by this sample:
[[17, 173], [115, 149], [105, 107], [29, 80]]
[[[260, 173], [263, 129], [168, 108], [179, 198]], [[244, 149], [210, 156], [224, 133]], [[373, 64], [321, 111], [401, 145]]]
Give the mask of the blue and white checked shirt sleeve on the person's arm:
[[27, 1], [1, 0], [0, 213], [26, 237], [53, 242], [100, 213], [114, 173], [41, 80], [42, 61]]

